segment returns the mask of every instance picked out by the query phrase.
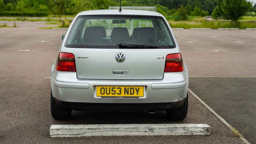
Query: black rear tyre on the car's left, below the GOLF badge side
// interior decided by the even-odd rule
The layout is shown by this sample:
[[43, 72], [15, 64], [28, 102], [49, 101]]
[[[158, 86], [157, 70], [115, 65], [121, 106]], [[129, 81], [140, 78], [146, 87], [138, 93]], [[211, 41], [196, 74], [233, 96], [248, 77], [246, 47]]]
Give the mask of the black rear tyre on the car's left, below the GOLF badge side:
[[52, 96], [52, 89], [51, 89], [51, 114], [54, 119], [57, 120], [66, 120], [71, 117], [72, 110], [65, 109], [57, 106], [55, 103], [53, 96]]

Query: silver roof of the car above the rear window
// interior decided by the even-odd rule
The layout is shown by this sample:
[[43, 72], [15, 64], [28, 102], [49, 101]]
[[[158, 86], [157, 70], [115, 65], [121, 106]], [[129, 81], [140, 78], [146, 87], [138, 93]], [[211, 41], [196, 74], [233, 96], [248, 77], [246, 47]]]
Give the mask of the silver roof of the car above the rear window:
[[142, 11], [142, 10], [91, 10], [80, 12], [78, 15], [147, 15], [147, 16], [163, 16], [159, 12]]

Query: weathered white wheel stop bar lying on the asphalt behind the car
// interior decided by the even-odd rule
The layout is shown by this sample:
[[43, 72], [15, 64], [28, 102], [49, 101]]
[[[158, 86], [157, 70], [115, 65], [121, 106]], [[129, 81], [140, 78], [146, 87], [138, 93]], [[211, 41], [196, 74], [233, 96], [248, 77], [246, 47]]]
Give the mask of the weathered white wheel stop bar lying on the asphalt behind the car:
[[210, 135], [208, 124], [51, 125], [50, 137]]

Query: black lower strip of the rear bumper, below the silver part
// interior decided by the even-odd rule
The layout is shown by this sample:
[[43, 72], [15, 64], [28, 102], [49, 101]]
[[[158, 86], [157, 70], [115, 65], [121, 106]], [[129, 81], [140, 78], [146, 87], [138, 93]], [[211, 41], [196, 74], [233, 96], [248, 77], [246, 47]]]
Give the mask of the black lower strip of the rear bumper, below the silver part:
[[62, 107], [72, 110], [82, 111], [148, 111], [148, 110], [169, 110], [179, 108], [185, 99], [177, 102], [164, 103], [86, 103], [86, 102], [67, 102], [53, 98], [55, 103]]

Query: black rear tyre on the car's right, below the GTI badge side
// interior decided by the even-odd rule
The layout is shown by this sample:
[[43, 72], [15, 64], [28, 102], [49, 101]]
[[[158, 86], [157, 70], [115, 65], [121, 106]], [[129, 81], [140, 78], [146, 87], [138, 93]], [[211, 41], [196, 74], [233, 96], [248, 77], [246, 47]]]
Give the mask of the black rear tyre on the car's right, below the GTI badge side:
[[171, 110], [166, 110], [167, 117], [170, 120], [183, 120], [188, 114], [188, 94], [184, 104], [180, 108], [175, 108]]

